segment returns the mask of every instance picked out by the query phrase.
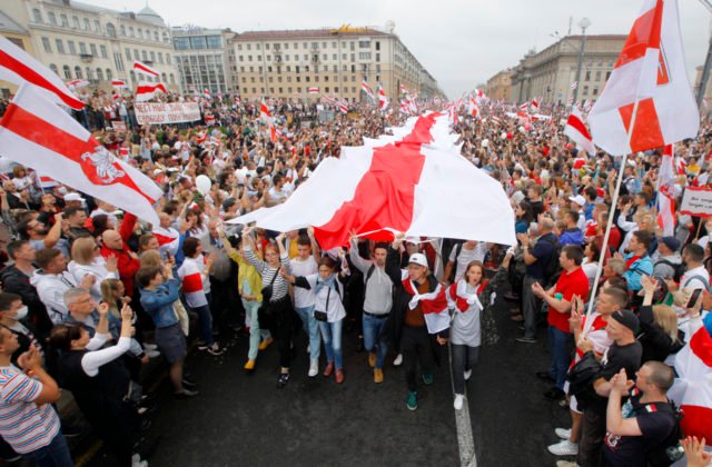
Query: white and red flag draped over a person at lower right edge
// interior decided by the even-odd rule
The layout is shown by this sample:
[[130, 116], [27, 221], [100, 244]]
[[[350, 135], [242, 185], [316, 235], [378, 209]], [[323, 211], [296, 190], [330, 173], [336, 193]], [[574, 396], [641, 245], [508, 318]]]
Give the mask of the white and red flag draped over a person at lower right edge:
[[679, 378], [669, 397], [683, 410], [680, 426], [685, 436], [712, 440], [712, 336], [698, 329], [675, 356]]

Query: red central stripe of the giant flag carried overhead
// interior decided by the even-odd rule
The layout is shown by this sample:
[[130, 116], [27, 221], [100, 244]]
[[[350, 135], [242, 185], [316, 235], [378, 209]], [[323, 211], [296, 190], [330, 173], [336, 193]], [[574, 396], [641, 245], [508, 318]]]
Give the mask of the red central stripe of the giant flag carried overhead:
[[[411, 227], [415, 186], [425, 165], [421, 145], [432, 140], [429, 131], [437, 116], [421, 117], [403, 141], [374, 149], [370, 168], [356, 186], [354, 198], [342, 205], [327, 223], [315, 228], [324, 249], [346, 245], [352, 230], [369, 232], [389, 227], [406, 231]], [[393, 234], [384, 230], [368, 238], [390, 240]]]

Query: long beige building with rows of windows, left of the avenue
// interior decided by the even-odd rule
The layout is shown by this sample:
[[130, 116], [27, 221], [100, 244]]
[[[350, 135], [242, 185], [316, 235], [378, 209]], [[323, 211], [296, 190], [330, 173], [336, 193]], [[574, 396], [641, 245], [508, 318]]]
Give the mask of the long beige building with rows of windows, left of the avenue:
[[[398, 36], [376, 28], [246, 31], [231, 38], [229, 58], [244, 98], [269, 96], [310, 100], [318, 95], [360, 101], [362, 79], [376, 92], [382, 86], [392, 101], [399, 87], [427, 92], [435, 80]], [[318, 88], [318, 93], [308, 93]]]

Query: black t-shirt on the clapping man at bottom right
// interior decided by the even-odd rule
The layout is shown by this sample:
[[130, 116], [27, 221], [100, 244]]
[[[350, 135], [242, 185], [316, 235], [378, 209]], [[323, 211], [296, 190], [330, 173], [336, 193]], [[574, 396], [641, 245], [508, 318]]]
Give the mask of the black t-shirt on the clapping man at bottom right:
[[612, 467], [645, 467], [645, 453], [668, 438], [675, 427], [666, 404], [641, 404], [640, 395], [631, 396], [622, 407], [623, 418], [635, 418], [642, 436], [617, 436], [606, 433], [604, 456]]

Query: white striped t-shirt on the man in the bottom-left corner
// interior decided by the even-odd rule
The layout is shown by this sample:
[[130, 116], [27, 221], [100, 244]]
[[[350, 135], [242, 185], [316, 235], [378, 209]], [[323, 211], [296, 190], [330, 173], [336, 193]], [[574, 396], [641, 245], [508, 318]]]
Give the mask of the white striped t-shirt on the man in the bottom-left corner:
[[48, 446], [59, 433], [59, 417], [50, 404], [32, 403], [42, 384], [10, 365], [0, 367], [0, 436], [18, 454]]

